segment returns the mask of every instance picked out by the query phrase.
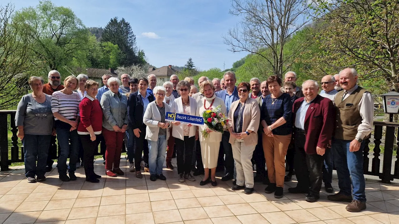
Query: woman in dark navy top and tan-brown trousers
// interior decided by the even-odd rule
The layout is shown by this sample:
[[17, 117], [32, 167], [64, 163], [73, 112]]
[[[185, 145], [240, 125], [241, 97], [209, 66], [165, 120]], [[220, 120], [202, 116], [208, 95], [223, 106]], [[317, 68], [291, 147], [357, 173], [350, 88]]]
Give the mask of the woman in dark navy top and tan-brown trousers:
[[289, 94], [280, 90], [281, 79], [272, 75], [267, 79], [270, 95], [263, 100], [261, 124], [263, 126], [263, 151], [270, 184], [265, 193], [275, 192], [275, 198], [282, 198], [285, 176], [285, 155], [291, 141], [292, 101]]

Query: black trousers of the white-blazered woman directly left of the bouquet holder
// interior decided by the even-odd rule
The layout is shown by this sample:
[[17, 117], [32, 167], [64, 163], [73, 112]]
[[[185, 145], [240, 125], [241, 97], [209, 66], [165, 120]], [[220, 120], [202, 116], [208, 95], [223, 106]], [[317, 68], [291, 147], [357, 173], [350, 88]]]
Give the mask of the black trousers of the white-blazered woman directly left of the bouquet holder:
[[192, 136], [191, 138], [184, 136], [184, 141], [175, 138], [177, 172], [179, 174], [189, 174], [191, 171], [195, 138], [195, 136]]

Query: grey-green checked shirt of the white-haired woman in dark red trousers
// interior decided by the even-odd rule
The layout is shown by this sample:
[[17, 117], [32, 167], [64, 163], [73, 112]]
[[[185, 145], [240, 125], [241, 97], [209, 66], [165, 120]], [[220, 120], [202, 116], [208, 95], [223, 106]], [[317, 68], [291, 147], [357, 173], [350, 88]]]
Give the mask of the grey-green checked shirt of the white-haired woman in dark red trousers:
[[111, 90], [104, 92], [100, 104], [103, 108], [104, 128], [114, 131], [113, 126], [117, 125], [122, 128], [124, 124], [128, 124], [127, 97], [124, 94], [120, 92], [115, 94]]

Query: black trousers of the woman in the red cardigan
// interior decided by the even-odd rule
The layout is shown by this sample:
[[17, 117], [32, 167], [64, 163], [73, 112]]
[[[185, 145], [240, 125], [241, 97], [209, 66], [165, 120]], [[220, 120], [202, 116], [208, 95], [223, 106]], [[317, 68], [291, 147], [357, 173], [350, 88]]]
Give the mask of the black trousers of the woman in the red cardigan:
[[98, 150], [99, 143], [101, 140], [101, 135], [96, 135], [96, 140], [91, 141], [90, 135], [79, 135], [79, 139], [82, 142], [83, 147], [83, 164], [85, 167], [85, 174], [86, 177], [93, 177], [94, 176], [94, 153]]

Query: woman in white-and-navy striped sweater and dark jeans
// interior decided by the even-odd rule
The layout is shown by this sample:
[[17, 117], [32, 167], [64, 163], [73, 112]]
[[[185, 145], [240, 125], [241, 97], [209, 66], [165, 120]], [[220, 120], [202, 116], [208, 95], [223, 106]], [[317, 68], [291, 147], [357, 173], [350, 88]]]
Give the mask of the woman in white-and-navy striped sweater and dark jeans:
[[[76, 90], [77, 79], [70, 75], [64, 80], [64, 88], [53, 92], [51, 97], [51, 111], [55, 117], [55, 129], [61, 153], [58, 158], [59, 179], [62, 181], [76, 181], [75, 171], [79, 153], [79, 136], [77, 126], [80, 120], [80, 96]], [[70, 144], [69, 144], [70, 143]], [[67, 158], [69, 155], [69, 177], [67, 175]]]

